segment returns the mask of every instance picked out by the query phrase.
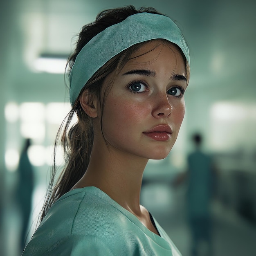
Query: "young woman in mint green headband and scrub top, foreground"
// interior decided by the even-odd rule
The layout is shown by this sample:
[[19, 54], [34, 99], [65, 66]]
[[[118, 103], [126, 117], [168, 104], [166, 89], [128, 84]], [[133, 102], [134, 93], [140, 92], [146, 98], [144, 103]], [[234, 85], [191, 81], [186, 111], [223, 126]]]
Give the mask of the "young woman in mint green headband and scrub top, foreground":
[[68, 64], [67, 164], [23, 255], [180, 255], [139, 204], [148, 159], [168, 155], [184, 117], [189, 50], [180, 30], [153, 8], [103, 11]]

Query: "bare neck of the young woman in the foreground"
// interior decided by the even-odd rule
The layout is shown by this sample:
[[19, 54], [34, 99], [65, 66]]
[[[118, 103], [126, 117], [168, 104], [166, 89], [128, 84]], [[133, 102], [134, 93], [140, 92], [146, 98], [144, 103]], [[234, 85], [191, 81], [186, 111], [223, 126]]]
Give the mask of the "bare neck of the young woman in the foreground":
[[122, 151], [94, 147], [85, 175], [74, 186], [96, 186], [122, 207], [135, 215], [141, 214], [139, 204], [143, 171], [148, 159]]

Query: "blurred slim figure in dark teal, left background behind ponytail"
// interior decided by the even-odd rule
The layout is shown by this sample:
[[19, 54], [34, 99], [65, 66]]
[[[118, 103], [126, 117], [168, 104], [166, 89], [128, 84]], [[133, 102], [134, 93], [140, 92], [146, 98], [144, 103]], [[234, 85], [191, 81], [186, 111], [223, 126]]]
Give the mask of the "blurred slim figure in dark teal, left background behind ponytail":
[[22, 250], [25, 247], [27, 238], [34, 189], [34, 173], [28, 157], [28, 149], [30, 145], [31, 140], [26, 139], [18, 164], [18, 183], [16, 188], [16, 199], [22, 220], [20, 233], [20, 249]]

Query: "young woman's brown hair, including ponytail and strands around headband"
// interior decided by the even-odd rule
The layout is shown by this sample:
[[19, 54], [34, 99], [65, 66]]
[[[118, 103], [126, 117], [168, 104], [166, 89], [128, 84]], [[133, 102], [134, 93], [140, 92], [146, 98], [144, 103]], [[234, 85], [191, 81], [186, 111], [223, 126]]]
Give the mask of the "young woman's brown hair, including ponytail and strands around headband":
[[[67, 62], [67, 75], [70, 75], [70, 70], [72, 69], [77, 54], [81, 51], [83, 46], [88, 43], [89, 40], [91, 40], [94, 36], [96, 36], [107, 27], [125, 20], [130, 15], [141, 12], [161, 14], [153, 8], [140, 8], [137, 10], [131, 5], [117, 9], [110, 9], [99, 13], [95, 22], [92, 22], [89, 25], [85, 25], [79, 33], [79, 38], [76, 43], [76, 49], [74, 50], [74, 53], [70, 56]], [[132, 45], [128, 49], [124, 50], [123, 52], [117, 54], [115, 57], [110, 59], [110, 61], [103, 65], [90, 78], [90, 80], [81, 90], [79, 97], [85, 90], [88, 90], [88, 93], [94, 94], [94, 96], [97, 97], [101, 106], [101, 112], [103, 112], [104, 102], [109, 90], [104, 90], [104, 92], [101, 92], [101, 85], [109, 74], [114, 74], [113, 77], [115, 79], [115, 76], [130, 59], [131, 54], [136, 52], [136, 50], [145, 43], [147, 42]], [[186, 76], [189, 77], [188, 63], [181, 50], [180, 52], [186, 63]], [[112, 82], [113, 80], [108, 81], [108, 85], [111, 86]], [[63, 194], [70, 191], [70, 189], [72, 189], [72, 187], [81, 179], [90, 161], [93, 143], [92, 119], [85, 113], [85, 111], [81, 107], [79, 97], [76, 99], [74, 106], [61, 124], [61, 127], [59, 128], [56, 136], [54, 144], [54, 165], [52, 167], [51, 179], [47, 189], [45, 203], [42, 209], [42, 214], [40, 218], [41, 221], [45, 217], [46, 213], [49, 211], [49, 208], [52, 206], [52, 204]], [[78, 121], [69, 129], [74, 114], [77, 115]], [[56, 184], [54, 184], [57, 174], [55, 155], [56, 146], [58, 145], [59, 139], [61, 139], [61, 145], [63, 146], [64, 150], [65, 167], [61, 172], [61, 175], [59, 175]]]

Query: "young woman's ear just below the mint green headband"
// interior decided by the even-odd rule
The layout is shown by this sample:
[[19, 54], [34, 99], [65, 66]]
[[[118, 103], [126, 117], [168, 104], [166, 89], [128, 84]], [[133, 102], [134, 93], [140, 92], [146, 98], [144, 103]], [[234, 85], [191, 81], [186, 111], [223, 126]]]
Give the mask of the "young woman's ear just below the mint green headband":
[[85, 113], [92, 118], [98, 117], [97, 112], [97, 101], [88, 90], [85, 90], [80, 98], [79, 98], [80, 104], [85, 111]]

